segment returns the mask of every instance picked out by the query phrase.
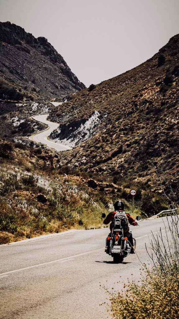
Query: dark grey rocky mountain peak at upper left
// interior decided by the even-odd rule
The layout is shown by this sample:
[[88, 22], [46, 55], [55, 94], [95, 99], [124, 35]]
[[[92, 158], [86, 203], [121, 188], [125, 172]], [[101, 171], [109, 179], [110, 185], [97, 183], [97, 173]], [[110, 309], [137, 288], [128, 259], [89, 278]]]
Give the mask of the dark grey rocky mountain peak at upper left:
[[0, 22], [0, 74], [6, 85], [35, 98], [64, 97], [85, 87], [44, 37]]

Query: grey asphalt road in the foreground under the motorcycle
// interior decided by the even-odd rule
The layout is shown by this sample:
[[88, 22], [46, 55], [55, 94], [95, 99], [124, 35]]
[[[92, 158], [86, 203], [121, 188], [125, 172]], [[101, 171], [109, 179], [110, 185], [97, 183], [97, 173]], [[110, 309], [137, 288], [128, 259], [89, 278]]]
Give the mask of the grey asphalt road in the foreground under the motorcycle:
[[122, 264], [104, 253], [109, 228], [0, 246], [0, 318], [110, 318], [106, 303], [100, 305], [108, 298], [103, 286], [121, 289], [119, 280], [140, 278], [137, 255], [148, 260], [145, 242], [149, 245], [151, 230], [164, 230], [163, 221], [167, 224], [165, 217], [131, 226], [137, 254]]

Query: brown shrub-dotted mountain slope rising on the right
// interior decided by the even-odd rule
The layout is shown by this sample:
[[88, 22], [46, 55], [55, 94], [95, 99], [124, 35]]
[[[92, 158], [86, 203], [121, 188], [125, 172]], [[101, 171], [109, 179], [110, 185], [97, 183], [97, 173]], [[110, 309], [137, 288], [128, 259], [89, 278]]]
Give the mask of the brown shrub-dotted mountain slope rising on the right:
[[[95, 112], [100, 121], [90, 138], [63, 153], [63, 165], [97, 179], [142, 182], [155, 188], [154, 167], [179, 178], [179, 35], [151, 59], [115, 78], [71, 96], [50, 119], [52, 138], [72, 140]], [[70, 129], [70, 132], [69, 132]], [[70, 134], [69, 134], [70, 133]]]

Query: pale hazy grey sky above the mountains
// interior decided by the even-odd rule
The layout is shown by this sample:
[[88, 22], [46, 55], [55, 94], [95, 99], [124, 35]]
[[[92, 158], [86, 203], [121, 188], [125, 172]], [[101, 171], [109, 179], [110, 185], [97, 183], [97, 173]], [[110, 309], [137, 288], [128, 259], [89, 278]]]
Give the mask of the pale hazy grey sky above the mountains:
[[179, 33], [179, 0], [0, 0], [0, 21], [47, 38], [89, 86], [146, 61]]

